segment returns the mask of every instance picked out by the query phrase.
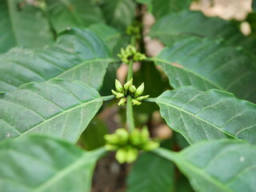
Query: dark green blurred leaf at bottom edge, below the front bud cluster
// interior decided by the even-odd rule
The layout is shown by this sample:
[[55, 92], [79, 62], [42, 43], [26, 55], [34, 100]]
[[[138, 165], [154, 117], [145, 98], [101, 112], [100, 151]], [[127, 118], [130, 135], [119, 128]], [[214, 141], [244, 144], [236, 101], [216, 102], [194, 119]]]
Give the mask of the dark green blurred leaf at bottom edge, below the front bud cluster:
[[174, 191], [174, 164], [154, 154], [141, 154], [127, 178], [128, 192]]

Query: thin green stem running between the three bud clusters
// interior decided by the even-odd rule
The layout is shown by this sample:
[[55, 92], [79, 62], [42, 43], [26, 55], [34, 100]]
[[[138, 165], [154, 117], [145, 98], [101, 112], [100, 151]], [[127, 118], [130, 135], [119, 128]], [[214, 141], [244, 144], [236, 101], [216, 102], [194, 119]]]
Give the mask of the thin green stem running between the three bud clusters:
[[[129, 62], [129, 67], [128, 67], [127, 82], [131, 78], [133, 78], [133, 66], [134, 66], [134, 61], [131, 59]], [[130, 132], [132, 132], [135, 128], [135, 123], [134, 123], [134, 112], [133, 112], [132, 98], [130, 95], [127, 96], [126, 121], [127, 121], [128, 130]]]

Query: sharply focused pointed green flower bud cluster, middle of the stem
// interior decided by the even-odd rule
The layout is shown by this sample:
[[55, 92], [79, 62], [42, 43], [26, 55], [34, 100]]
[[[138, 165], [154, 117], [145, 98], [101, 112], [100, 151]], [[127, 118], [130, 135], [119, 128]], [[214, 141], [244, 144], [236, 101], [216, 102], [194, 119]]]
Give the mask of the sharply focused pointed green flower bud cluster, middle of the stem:
[[144, 95], [142, 96], [142, 93], [144, 91], [144, 82], [142, 82], [141, 86], [133, 85], [133, 79], [131, 78], [130, 81], [126, 82], [124, 86], [122, 86], [121, 82], [118, 81], [118, 79], [115, 80], [115, 90], [111, 90], [112, 93], [115, 95], [116, 98], [121, 98], [118, 102], [118, 106], [125, 106], [127, 102], [127, 95], [130, 95], [132, 97], [132, 104], [134, 106], [139, 106], [142, 104], [142, 100], [149, 98], [150, 95]]

